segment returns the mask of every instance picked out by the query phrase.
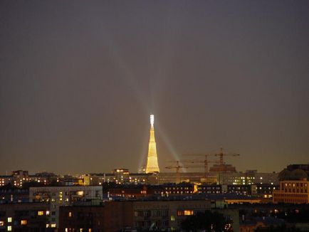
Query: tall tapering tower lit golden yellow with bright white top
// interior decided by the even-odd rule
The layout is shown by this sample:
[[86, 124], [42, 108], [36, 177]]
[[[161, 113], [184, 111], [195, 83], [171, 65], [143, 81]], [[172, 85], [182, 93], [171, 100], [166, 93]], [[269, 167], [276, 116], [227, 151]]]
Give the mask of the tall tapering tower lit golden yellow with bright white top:
[[147, 156], [146, 173], [160, 172], [157, 157], [157, 147], [155, 142], [155, 128], [153, 124], [155, 122], [155, 115], [150, 115], [150, 139]]

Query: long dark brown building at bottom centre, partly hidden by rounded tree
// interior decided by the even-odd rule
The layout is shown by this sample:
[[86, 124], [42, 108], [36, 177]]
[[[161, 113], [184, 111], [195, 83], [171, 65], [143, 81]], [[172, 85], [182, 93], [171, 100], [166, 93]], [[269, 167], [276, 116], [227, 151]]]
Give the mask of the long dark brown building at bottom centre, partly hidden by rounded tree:
[[58, 231], [179, 231], [188, 216], [218, 211], [239, 231], [239, 211], [213, 209], [209, 200], [105, 201], [100, 206], [61, 206]]

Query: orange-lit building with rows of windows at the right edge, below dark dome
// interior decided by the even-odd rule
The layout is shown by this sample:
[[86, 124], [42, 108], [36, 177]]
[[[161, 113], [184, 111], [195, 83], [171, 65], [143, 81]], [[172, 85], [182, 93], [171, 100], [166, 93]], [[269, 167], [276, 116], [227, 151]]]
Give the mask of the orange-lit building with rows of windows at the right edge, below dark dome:
[[280, 189], [273, 191], [273, 203], [309, 204], [309, 181], [280, 181]]

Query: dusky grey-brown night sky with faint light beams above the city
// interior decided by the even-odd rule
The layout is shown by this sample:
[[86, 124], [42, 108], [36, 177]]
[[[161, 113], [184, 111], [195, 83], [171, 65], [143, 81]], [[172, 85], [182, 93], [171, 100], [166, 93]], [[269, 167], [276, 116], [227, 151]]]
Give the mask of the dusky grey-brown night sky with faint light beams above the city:
[[[309, 162], [309, 1], [0, 1], [0, 174], [137, 172], [219, 147]], [[193, 171], [193, 170], [192, 170]]]

